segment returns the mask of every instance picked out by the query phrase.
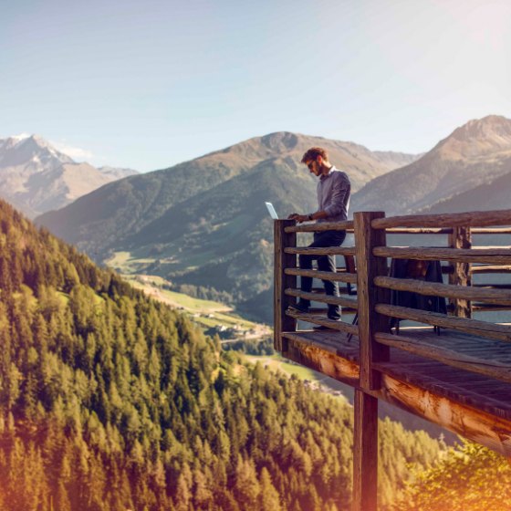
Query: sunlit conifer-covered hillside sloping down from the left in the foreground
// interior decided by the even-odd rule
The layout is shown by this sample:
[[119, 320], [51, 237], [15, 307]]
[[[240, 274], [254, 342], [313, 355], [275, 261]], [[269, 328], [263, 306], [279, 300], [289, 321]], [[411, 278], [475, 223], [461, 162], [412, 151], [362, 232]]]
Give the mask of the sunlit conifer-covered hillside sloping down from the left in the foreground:
[[[0, 203], [0, 508], [349, 509], [352, 410]], [[443, 445], [381, 423], [386, 507]]]

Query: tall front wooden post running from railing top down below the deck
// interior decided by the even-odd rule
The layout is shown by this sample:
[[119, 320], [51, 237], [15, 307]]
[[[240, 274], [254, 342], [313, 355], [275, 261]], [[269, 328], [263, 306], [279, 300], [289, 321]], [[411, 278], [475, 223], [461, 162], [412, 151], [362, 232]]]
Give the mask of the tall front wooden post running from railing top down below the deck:
[[388, 318], [374, 308], [387, 301], [385, 289], [374, 285], [375, 276], [387, 276], [387, 259], [372, 254], [375, 246], [385, 246], [385, 230], [373, 229], [374, 218], [383, 212], [355, 213], [357, 257], [357, 299], [359, 303], [360, 388], [355, 391], [353, 433], [352, 511], [377, 511], [378, 488], [378, 399], [365, 391], [381, 388], [381, 374], [373, 362], [390, 360], [388, 346], [374, 339], [376, 332], [388, 332]]

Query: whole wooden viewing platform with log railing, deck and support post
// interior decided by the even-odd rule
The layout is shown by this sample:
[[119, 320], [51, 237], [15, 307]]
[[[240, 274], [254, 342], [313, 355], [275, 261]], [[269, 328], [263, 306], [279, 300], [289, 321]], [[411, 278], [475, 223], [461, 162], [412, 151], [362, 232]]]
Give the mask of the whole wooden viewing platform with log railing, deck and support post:
[[[511, 210], [391, 218], [356, 213], [353, 221], [335, 224], [275, 221], [275, 349], [355, 389], [353, 511], [377, 509], [379, 400], [511, 458], [511, 324], [472, 318], [473, 311], [511, 310], [511, 286], [472, 283], [474, 275], [511, 273], [510, 248], [472, 245], [473, 234], [509, 235], [511, 229], [502, 228], [509, 225]], [[355, 245], [297, 246], [297, 233], [327, 229], [353, 232]], [[447, 235], [448, 243], [387, 246], [387, 234]], [[351, 257], [351, 269], [300, 270], [299, 254]], [[391, 277], [388, 260], [398, 258], [446, 261], [448, 283]], [[297, 276], [347, 287], [339, 297], [320, 288], [303, 293]], [[349, 285], [356, 285], [356, 296], [346, 296], [353, 295]], [[448, 298], [448, 314], [391, 305], [391, 290]], [[299, 297], [338, 304], [343, 314], [358, 314], [358, 324], [328, 319], [326, 307], [288, 310]], [[391, 331], [390, 318], [424, 326]], [[334, 329], [297, 330], [298, 319]], [[433, 328], [443, 328], [441, 335]]]

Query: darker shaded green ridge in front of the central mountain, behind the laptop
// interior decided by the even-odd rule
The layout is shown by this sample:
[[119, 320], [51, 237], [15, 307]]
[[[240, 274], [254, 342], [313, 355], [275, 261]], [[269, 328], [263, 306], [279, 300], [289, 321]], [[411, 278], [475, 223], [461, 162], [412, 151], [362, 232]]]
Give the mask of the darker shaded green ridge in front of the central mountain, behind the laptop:
[[314, 210], [311, 182], [308, 174], [297, 174], [292, 161], [264, 162], [170, 208], [120, 247], [149, 255], [160, 245], [161, 260], [168, 261], [160, 272], [172, 281], [251, 297], [272, 283], [273, 222], [265, 200], [279, 214], [296, 204]]

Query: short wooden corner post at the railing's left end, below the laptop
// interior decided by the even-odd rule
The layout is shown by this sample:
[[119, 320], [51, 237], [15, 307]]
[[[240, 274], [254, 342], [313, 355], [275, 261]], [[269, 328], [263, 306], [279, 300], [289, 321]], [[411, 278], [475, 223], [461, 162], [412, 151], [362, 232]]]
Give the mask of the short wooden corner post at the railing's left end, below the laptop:
[[297, 267], [297, 255], [286, 254], [284, 249], [289, 246], [297, 246], [297, 233], [287, 233], [286, 227], [294, 226], [294, 220], [274, 221], [275, 242], [275, 295], [274, 295], [274, 349], [287, 351], [287, 339], [282, 338], [282, 332], [294, 332], [297, 329], [297, 320], [287, 316], [286, 309], [295, 305], [297, 298], [287, 295], [286, 289], [297, 287], [297, 276], [284, 273], [286, 268]]

